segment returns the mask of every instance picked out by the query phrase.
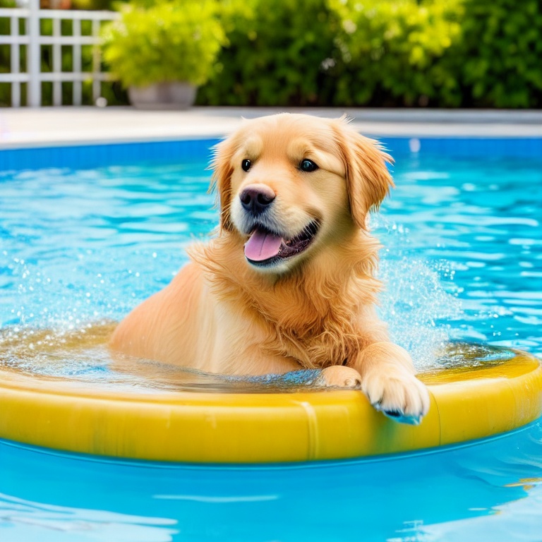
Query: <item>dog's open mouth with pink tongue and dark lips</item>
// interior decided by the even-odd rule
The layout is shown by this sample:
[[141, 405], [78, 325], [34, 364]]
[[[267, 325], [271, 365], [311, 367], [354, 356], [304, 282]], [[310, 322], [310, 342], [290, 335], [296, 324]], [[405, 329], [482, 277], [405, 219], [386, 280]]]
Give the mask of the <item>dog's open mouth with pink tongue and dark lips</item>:
[[301, 254], [311, 245], [319, 227], [318, 221], [313, 220], [300, 234], [291, 239], [284, 239], [274, 231], [258, 226], [246, 241], [246, 259], [253, 265], [264, 267]]

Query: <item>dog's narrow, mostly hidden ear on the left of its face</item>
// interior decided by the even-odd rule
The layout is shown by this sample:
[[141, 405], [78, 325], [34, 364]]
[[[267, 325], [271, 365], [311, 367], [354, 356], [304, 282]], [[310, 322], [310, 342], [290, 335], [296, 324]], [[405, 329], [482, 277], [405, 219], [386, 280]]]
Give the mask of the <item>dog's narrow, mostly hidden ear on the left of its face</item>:
[[219, 231], [231, 231], [231, 175], [234, 172], [232, 159], [236, 150], [234, 140], [227, 138], [213, 148], [210, 191], [216, 191], [216, 205], [220, 210]]

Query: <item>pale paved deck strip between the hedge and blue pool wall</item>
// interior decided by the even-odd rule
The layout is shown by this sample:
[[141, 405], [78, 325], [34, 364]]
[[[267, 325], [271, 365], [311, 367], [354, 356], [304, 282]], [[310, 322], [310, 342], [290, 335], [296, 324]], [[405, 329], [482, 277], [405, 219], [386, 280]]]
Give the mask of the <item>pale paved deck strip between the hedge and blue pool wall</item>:
[[0, 150], [216, 138], [234, 130], [241, 117], [283, 111], [327, 117], [347, 114], [361, 133], [375, 137], [542, 138], [542, 111], [529, 110], [44, 107], [1, 109]]

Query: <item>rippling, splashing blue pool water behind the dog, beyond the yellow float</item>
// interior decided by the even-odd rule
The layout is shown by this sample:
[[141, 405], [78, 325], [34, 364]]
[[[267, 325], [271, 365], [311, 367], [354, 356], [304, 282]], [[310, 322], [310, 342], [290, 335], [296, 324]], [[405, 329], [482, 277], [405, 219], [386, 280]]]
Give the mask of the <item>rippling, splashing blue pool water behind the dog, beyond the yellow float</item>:
[[[118, 320], [167, 284], [183, 247], [217, 224], [205, 167], [4, 174], [1, 325]], [[537, 161], [397, 157], [397, 189], [373, 218], [385, 245], [381, 312], [422, 366], [450, 337], [542, 354], [541, 171]]]

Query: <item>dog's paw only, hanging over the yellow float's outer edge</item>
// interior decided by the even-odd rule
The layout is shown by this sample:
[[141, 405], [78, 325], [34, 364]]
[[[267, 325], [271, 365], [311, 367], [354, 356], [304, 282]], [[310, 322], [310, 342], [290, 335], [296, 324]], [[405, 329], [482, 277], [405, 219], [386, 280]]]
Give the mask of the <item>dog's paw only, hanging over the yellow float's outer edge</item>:
[[403, 423], [416, 425], [429, 410], [426, 386], [406, 371], [371, 371], [363, 378], [361, 390], [375, 409]]

